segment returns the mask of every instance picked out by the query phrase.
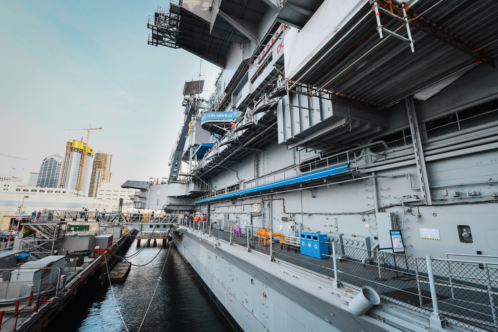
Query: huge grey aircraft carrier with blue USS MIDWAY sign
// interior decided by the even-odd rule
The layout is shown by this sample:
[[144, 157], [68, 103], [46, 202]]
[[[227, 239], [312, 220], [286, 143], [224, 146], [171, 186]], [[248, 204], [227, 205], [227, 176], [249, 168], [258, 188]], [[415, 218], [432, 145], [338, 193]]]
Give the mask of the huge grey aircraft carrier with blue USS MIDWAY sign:
[[209, 98], [185, 82], [168, 181], [123, 187], [179, 216], [175, 246], [237, 331], [497, 332], [497, 16], [173, 0], [148, 43], [220, 71]]

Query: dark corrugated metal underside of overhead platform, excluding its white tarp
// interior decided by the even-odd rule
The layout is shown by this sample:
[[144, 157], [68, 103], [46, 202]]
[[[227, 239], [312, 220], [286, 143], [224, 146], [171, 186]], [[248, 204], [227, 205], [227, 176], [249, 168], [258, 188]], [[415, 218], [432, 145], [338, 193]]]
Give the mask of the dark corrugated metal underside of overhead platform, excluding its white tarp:
[[[435, 4], [421, 0], [408, 10], [410, 18], [418, 13], [423, 13], [420, 19], [425, 25], [434, 25], [462, 44], [488, 55], [498, 51], [498, 1], [453, 0]], [[413, 26], [415, 52], [411, 53], [410, 47], [398, 38], [384, 35], [380, 39], [373, 15], [367, 3], [291, 80], [385, 107], [479, 61], [465, 53], [463, 46], [457, 48]], [[335, 44], [357, 22], [360, 24]], [[399, 20], [386, 16], [382, 23], [384, 28], [406, 37], [406, 29]], [[325, 54], [332, 45], [333, 51]]]

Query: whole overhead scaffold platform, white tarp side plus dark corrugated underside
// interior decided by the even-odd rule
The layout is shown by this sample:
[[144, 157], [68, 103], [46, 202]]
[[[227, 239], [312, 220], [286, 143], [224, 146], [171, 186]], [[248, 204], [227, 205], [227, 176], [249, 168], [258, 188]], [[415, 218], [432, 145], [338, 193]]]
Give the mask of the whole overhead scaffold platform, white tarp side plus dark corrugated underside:
[[[377, 1], [380, 38], [370, 1], [325, 1], [301, 31], [286, 34], [285, 48], [302, 50], [285, 54], [286, 77], [387, 107], [475, 63], [494, 66], [497, 1], [411, 1], [407, 18], [413, 53], [408, 42], [384, 31], [408, 38], [399, 19], [401, 7], [389, 2]], [[330, 15], [337, 12], [333, 6], [346, 4], [349, 10], [341, 9], [342, 16]], [[386, 13], [389, 6], [397, 17]]]

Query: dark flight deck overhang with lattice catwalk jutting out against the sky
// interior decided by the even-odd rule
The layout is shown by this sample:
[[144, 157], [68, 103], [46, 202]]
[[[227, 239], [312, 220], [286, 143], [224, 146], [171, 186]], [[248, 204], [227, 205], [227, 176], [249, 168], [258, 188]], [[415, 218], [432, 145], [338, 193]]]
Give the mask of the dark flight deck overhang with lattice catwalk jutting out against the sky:
[[[148, 44], [183, 48], [222, 68], [232, 44], [250, 41], [245, 50], [259, 52], [281, 22], [301, 28], [323, 0], [171, 0], [149, 16]], [[245, 60], [245, 59], [244, 59]]]

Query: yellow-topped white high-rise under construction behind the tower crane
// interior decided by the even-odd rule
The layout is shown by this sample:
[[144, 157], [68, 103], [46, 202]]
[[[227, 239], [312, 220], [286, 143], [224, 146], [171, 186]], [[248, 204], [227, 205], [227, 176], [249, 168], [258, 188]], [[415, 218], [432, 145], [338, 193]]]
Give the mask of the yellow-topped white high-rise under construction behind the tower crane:
[[66, 142], [59, 187], [88, 193], [94, 156], [95, 150], [85, 142]]

